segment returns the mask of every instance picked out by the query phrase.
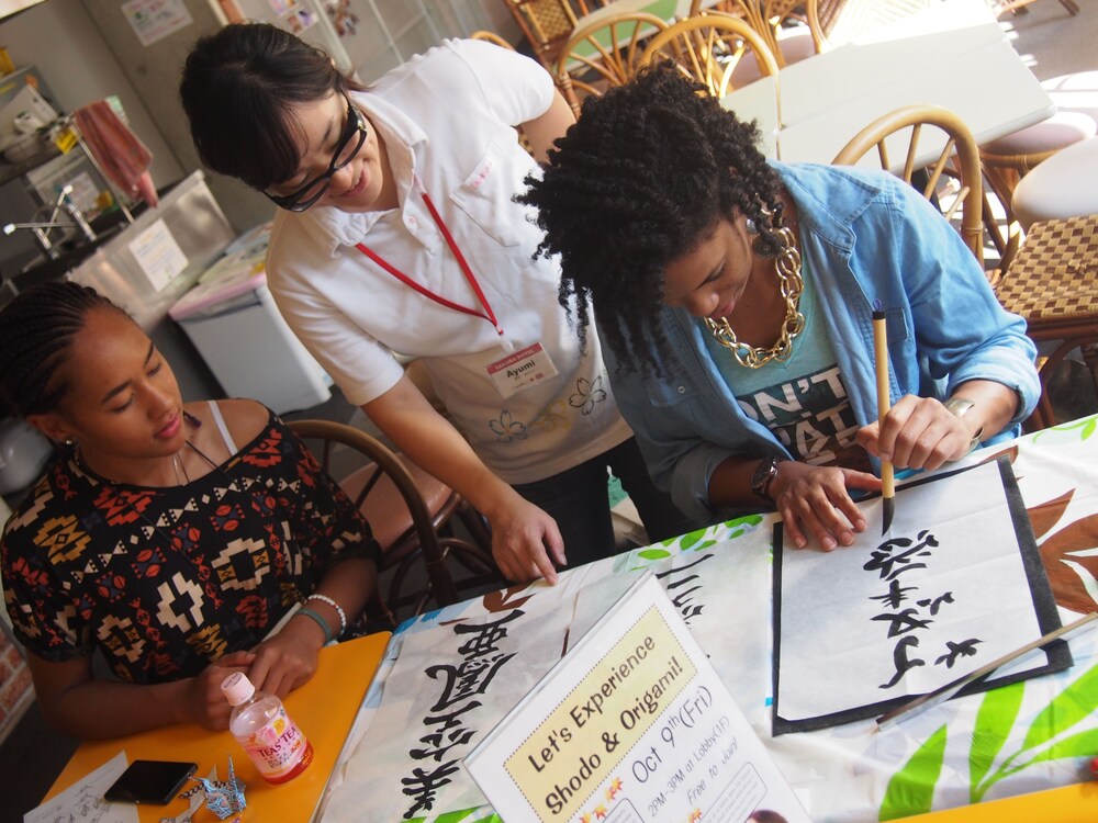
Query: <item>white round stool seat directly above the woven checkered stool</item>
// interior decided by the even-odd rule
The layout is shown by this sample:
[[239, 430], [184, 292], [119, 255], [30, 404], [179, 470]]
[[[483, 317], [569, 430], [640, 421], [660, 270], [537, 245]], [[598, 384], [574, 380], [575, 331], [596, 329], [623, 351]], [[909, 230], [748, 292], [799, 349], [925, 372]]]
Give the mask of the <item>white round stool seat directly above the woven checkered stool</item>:
[[1039, 221], [1098, 214], [1098, 137], [1038, 164], [1019, 181], [1012, 206], [1026, 230]]

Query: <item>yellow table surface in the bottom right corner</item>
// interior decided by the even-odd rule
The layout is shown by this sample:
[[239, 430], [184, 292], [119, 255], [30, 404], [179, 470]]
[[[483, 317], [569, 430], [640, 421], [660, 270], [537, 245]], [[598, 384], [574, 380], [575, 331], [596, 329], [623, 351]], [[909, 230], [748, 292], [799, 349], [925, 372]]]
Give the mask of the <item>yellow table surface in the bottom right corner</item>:
[[1085, 823], [1098, 820], [1098, 782], [1073, 783], [904, 818], [903, 823]]

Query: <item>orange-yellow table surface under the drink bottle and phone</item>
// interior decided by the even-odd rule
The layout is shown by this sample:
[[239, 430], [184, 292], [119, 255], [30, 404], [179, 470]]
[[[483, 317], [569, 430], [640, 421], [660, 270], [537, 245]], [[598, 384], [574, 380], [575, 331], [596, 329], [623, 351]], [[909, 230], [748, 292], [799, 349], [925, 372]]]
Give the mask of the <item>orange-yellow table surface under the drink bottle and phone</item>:
[[[64, 791], [123, 748], [131, 763], [138, 758], [190, 760], [199, 765], [197, 774], [203, 777], [216, 766], [221, 779], [226, 776], [232, 755], [236, 775], [247, 786], [245, 821], [307, 821], [321, 800], [389, 636], [388, 632], [381, 632], [322, 649], [313, 679], [285, 699], [287, 712], [313, 744], [314, 758], [305, 771], [288, 783], [271, 786], [264, 780], [251, 758], [227, 731], [209, 732], [188, 724], [82, 743], [45, 799]], [[187, 808], [187, 800], [177, 799], [168, 805], [137, 809], [142, 823], [157, 823]], [[201, 818], [205, 816], [215, 820], [212, 813], [203, 812]]]

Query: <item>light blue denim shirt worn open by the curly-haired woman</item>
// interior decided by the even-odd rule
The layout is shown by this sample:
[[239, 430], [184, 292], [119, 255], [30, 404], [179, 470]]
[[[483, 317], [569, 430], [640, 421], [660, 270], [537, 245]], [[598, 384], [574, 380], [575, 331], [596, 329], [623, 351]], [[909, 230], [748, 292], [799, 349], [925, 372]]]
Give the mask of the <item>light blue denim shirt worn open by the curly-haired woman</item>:
[[[858, 422], [877, 416], [871, 315], [879, 304], [888, 322], [892, 403], [908, 394], [945, 399], [965, 381], [995, 381], [1018, 393], [1018, 410], [985, 443], [1016, 436], [1040, 396], [1034, 346], [1024, 319], [999, 305], [938, 210], [886, 172], [773, 167], [797, 206], [800, 253]], [[664, 308], [659, 324], [668, 341], [659, 373], [634, 369], [634, 358], [623, 363], [603, 345], [618, 406], [657, 485], [684, 514], [708, 521], [731, 516], [709, 506], [714, 470], [731, 455], [791, 454], [740, 409], [695, 318]]]

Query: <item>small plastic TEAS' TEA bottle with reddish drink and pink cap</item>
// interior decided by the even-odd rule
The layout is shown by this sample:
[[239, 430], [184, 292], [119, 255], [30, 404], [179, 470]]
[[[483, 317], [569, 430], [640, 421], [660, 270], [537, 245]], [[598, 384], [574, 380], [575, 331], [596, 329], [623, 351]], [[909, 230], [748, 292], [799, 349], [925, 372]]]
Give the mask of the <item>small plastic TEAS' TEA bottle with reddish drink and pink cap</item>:
[[221, 690], [234, 707], [228, 729], [267, 782], [292, 780], [313, 762], [312, 744], [274, 695], [256, 691], [240, 672], [226, 677]]

